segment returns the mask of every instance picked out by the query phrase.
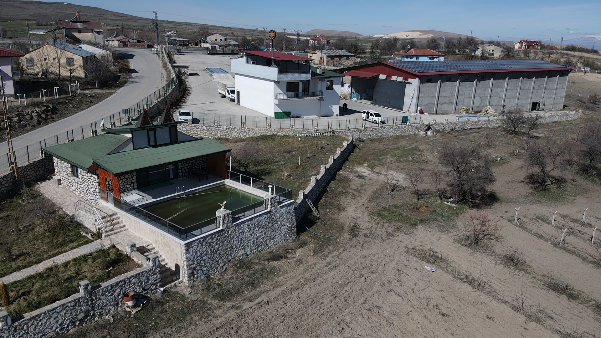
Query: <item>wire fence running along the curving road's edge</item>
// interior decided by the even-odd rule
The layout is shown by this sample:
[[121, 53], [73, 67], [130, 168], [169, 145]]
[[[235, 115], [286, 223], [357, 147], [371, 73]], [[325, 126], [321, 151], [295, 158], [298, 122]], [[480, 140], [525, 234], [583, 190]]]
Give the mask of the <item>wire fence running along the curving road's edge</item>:
[[[173, 68], [172, 71], [175, 73]], [[37, 161], [43, 156], [42, 149], [44, 147], [92, 137], [93, 134], [98, 134], [99, 129], [110, 128], [111, 126], [120, 126], [121, 124], [127, 123], [131, 120], [135, 120], [139, 115], [142, 114], [142, 110], [144, 108], [148, 109], [155, 105], [160, 99], [163, 99], [163, 97], [171, 93], [171, 90], [177, 87], [177, 84], [177, 76], [173, 76], [169, 82], [163, 85], [163, 87], [159, 88], [158, 90], [154, 91], [154, 93], [144, 97], [144, 99], [139, 100], [139, 102], [129, 106], [128, 108], [123, 108], [121, 111], [114, 112], [113, 114], [106, 115], [98, 120], [94, 120], [90, 122], [90, 124], [83, 124], [71, 129], [70, 131], [52, 135], [44, 138], [41, 141], [38, 141], [37, 143], [15, 149], [14, 153], [17, 165], [22, 167], [30, 162]], [[0, 173], [4, 175], [10, 171], [10, 156], [8, 153], [5, 153], [4, 155], [0, 156]]]

